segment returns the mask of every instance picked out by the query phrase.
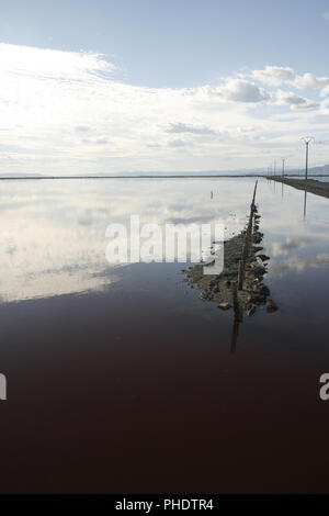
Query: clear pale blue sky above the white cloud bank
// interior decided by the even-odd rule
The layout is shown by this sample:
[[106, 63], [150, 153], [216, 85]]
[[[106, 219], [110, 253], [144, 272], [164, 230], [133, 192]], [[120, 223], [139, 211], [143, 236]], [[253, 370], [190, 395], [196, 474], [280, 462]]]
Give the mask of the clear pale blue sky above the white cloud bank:
[[268, 64], [328, 71], [328, 0], [1, 1], [1, 41], [105, 54], [134, 85], [189, 87]]

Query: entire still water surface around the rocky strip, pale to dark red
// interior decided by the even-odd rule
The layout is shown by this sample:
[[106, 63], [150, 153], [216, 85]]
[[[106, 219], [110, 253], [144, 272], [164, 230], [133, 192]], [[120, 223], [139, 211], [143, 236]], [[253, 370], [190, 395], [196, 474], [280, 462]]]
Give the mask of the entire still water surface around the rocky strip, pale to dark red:
[[[328, 200], [261, 181], [280, 310], [239, 327], [182, 263], [111, 266], [107, 224], [245, 223], [253, 181], [1, 184], [1, 492], [328, 492]], [[211, 191], [213, 199], [211, 200]]]

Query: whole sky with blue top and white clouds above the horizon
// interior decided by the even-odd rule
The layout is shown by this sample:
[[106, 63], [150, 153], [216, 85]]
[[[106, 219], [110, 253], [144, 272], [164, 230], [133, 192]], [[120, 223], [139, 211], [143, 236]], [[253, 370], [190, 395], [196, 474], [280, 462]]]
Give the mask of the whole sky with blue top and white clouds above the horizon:
[[0, 175], [329, 162], [329, 0], [0, 0]]

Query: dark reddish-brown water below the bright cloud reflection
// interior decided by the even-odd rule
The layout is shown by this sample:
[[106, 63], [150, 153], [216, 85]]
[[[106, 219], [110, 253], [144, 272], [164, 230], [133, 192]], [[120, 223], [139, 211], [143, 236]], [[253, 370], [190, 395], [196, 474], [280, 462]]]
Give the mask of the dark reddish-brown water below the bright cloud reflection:
[[[7, 271], [16, 301], [0, 307], [1, 492], [328, 492], [328, 206], [310, 197], [311, 221], [294, 232], [314, 240], [296, 255], [286, 223], [272, 226], [281, 191], [262, 188], [280, 310], [245, 318], [235, 354], [232, 313], [178, 283], [181, 266], [133, 265], [101, 292], [25, 300]], [[290, 195], [286, 216], [302, 200]]]

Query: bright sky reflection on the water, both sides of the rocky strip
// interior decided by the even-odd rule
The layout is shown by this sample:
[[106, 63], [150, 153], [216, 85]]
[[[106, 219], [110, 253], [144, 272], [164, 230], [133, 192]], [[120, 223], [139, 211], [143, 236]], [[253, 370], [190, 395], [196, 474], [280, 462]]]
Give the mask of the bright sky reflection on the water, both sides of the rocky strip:
[[[143, 223], [224, 223], [226, 238], [246, 222], [254, 180], [2, 181], [0, 299], [2, 302], [111, 288], [125, 267], [105, 258], [106, 226]], [[304, 274], [329, 265], [328, 200], [259, 181], [269, 278]]]

